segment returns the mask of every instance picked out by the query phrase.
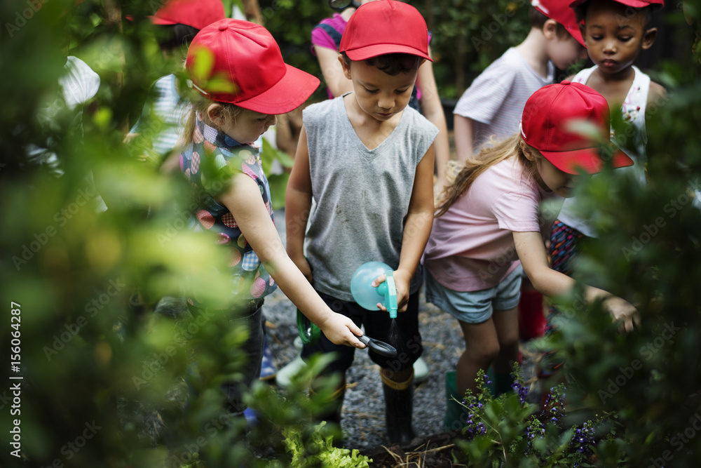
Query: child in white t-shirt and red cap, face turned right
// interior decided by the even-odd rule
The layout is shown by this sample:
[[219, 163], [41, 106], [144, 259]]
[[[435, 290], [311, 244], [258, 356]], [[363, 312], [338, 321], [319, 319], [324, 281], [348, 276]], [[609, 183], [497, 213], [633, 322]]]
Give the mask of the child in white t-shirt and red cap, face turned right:
[[[472, 82], [454, 110], [458, 161], [477, 154], [492, 136], [498, 140], [518, 131], [526, 100], [538, 88], [552, 83], [554, 67], [566, 69], [586, 58], [574, 12], [562, 0], [533, 0], [531, 31]], [[553, 67], [554, 64], [554, 67]], [[519, 303], [519, 335], [543, 334], [543, 296], [526, 279]]]

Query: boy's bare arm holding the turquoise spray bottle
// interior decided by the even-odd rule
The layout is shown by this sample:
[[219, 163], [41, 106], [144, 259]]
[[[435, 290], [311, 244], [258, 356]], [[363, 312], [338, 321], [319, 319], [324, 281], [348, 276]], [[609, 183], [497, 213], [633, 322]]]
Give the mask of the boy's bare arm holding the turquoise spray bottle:
[[[428, 236], [433, 228], [433, 161], [434, 149], [430, 146], [421, 162], [416, 166], [416, 178], [411, 189], [409, 201], [409, 213], [407, 222], [404, 223], [404, 235], [402, 236], [402, 252], [399, 257], [399, 266], [394, 272], [395, 286], [397, 287], [397, 310], [407, 310], [409, 302], [409, 283], [416, 273], [418, 262], [421, 261], [423, 249], [426, 248]], [[385, 281], [385, 275], [379, 276], [372, 282], [372, 286], [378, 286]], [[380, 307], [387, 310], [386, 307]]]

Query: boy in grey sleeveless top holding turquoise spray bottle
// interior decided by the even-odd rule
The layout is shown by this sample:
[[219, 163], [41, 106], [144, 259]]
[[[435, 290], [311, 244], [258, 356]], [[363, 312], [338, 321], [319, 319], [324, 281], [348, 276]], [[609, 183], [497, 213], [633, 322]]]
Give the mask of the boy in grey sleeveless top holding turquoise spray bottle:
[[[368, 335], [400, 348], [394, 359], [369, 356], [381, 368], [388, 440], [408, 443], [414, 439], [412, 367], [423, 352], [417, 269], [433, 220], [438, 133], [407, 107], [418, 68], [430, 60], [426, 22], [416, 8], [399, 1], [364, 4], [348, 20], [340, 51], [353, 92], [304, 110], [285, 199], [287, 252], [334, 310], [365, 325]], [[316, 208], [309, 215], [312, 197]], [[373, 260], [394, 269], [400, 311], [395, 322], [386, 312], [353, 302], [351, 276]], [[384, 275], [375, 283], [382, 281]], [[400, 340], [390, 336], [393, 325]], [[353, 350], [329, 338], [323, 333], [317, 345], [302, 349], [302, 356], [337, 353], [324, 373], [342, 377], [335, 410], [327, 417], [339, 423]]]

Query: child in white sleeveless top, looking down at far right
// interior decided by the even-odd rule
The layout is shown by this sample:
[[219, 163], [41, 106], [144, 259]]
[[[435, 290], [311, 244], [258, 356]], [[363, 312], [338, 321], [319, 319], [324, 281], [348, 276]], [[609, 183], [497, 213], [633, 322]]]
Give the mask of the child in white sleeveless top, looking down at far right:
[[[645, 182], [646, 136], [645, 112], [648, 102], [665, 96], [665, 88], [633, 65], [641, 51], [650, 48], [657, 29], [650, 27], [653, 9], [660, 8], [663, 0], [592, 0], [574, 1], [582, 35], [587, 44], [594, 67], [584, 69], [572, 81], [584, 83], [606, 98], [612, 112], [622, 112], [623, 118], [637, 129], [634, 145], [622, 145], [625, 136], [612, 135], [627, 150], [635, 166], [624, 171], [640, 182]], [[659, 102], [659, 101], [658, 101]], [[552, 267], [558, 272], [571, 274], [576, 262], [578, 246], [585, 239], [594, 239], [597, 233], [591, 220], [582, 218], [576, 211], [575, 199], [566, 200], [555, 220], [550, 234]], [[557, 309], [550, 309], [550, 318]], [[549, 320], [550, 321], [550, 320]], [[548, 326], [548, 333], [552, 326]], [[540, 363], [541, 379], [552, 377], [559, 362], [548, 353]]]

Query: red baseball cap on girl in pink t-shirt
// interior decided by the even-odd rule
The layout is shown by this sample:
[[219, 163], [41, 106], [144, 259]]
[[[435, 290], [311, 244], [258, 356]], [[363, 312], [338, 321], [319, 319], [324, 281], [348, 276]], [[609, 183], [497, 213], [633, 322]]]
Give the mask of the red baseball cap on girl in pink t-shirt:
[[[565, 80], [543, 86], [526, 101], [521, 136], [553, 166], [568, 174], [600, 172], [609, 158], [614, 168], [632, 166], [633, 160], [618, 148], [610, 155], [602, 155], [602, 148], [611, 147], [608, 119], [604, 96], [589, 86]], [[594, 124], [597, 135], [573, 130], [571, 125], [576, 121]]]

